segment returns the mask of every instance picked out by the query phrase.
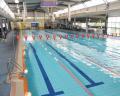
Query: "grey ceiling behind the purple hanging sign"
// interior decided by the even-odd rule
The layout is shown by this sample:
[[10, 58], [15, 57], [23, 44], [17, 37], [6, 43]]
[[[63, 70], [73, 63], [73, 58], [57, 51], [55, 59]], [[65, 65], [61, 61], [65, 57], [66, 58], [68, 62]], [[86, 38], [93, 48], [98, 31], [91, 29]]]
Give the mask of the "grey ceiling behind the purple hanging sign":
[[[23, 1], [26, 2], [27, 5], [27, 11], [39, 11], [39, 12], [48, 12], [48, 7], [41, 7], [41, 0], [19, 0], [19, 8], [20, 12], [23, 10]], [[71, 6], [79, 3], [84, 3], [89, 0], [57, 0], [57, 6], [52, 7], [52, 12], [56, 12], [58, 10], [64, 9], [68, 7], [68, 4]], [[17, 13], [17, 4], [15, 3], [15, 0], [5, 0], [5, 2], [8, 4], [10, 9]]]

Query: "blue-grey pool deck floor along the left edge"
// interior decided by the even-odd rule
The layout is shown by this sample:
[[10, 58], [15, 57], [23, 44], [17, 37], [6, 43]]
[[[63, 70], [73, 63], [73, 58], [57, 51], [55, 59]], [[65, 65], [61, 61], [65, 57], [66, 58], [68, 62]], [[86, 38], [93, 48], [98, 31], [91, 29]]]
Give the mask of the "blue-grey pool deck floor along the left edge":
[[[10, 94], [10, 84], [4, 83], [7, 79], [8, 58], [12, 55], [12, 48], [5, 41], [0, 41], [0, 96]], [[12, 57], [12, 56], [11, 56]]]

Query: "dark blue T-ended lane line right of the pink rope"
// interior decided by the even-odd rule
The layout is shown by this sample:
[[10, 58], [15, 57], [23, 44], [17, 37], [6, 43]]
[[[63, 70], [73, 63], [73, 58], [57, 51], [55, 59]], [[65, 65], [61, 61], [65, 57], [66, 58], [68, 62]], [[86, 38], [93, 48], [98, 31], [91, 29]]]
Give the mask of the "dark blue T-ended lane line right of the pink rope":
[[63, 59], [65, 59], [79, 74], [81, 74], [89, 83], [90, 85], [86, 85], [87, 88], [90, 87], [95, 87], [101, 84], [104, 84], [104, 82], [95, 82], [93, 81], [89, 76], [87, 76], [87, 74], [85, 74], [81, 69], [79, 69], [74, 63], [72, 63], [69, 59], [67, 59], [64, 55], [62, 55], [60, 52], [58, 52], [54, 47], [52, 47], [50, 44], [48, 44], [46, 42], [46, 44], [52, 48], [60, 57], [62, 57]]

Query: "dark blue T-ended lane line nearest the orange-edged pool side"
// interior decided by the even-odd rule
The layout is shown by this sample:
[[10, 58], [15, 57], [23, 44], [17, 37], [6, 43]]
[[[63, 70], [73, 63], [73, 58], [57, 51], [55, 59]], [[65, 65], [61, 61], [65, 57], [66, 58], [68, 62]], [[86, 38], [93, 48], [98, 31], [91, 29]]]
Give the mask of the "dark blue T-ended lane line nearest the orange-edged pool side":
[[33, 50], [34, 56], [36, 58], [38, 66], [39, 66], [39, 68], [41, 70], [42, 76], [43, 76], [43, 78], [45, 80], [47, 89], [49, 91], [48, 94], [44, 94], [44, 95], [41, 95], [41, 96], [57, 96], [57, 95], [64, 94], [64, 91], [55, 92], [55, 90], [54, 90], [54, 88], [53, 88], [53, 86], [52, 86], [52, 84], [51, 84], [51, 82], [50, 82], [50, 80], [49, 80], [49, 78], [47, 76], [47, 73], [45, 72], [45, 69], [44, 69], [44, 67], [43, 67], [43, 65], [42, 65], [42, 63], [41, 63], [41, 61], [40, 61], [40, 59], [39, 59], [39, 57], [37, 55], [37, 52], [36, 52], [35, 48], [33, 47], [33, 45], [31, 43], [29, 43], [29, 45]]

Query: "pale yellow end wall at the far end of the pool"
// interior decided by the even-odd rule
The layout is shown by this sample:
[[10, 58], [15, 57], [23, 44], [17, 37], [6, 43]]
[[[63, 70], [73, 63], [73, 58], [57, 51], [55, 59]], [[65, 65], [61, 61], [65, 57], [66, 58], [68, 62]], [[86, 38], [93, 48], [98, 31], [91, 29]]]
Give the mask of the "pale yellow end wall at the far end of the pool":
[[31, 23], [38, 23], [38, 29], [44, 29], [44, 23], [48, 19], [48, 15], [45, 13], [41, 12], [28, 12], [27, 17], [23, 21], [18, 21], [18, 22], [12, 22], [12, 29], [33, 29], [31, 27]]

